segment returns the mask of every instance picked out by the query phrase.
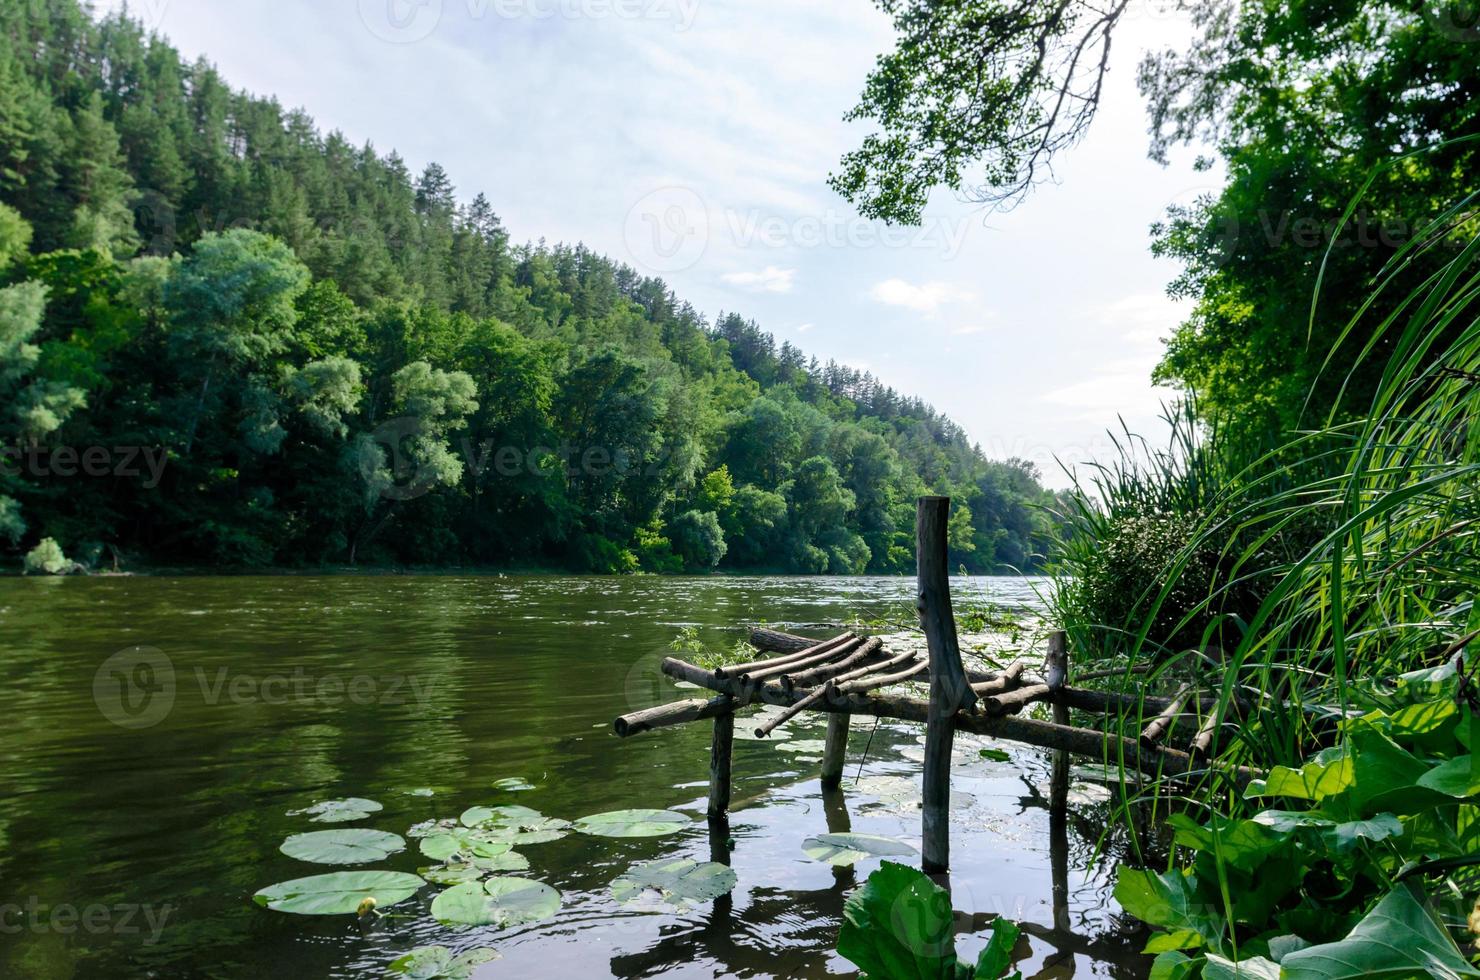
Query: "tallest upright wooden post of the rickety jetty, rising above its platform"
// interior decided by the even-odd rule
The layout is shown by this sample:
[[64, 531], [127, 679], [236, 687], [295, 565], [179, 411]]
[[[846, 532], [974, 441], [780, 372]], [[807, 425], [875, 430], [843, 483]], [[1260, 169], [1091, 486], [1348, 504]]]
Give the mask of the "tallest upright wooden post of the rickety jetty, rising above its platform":
[[950, 608], [946, 528], [950, 497], [921, 497], [915, 508], [916, 608], [929, 647], [929, 712], [925, 721], [925, 792], [921, 799], [921, 865], [928, 875], [950, 869], [950, 751], [956, 712], [977, 703], [961, 666], [956, 616]]

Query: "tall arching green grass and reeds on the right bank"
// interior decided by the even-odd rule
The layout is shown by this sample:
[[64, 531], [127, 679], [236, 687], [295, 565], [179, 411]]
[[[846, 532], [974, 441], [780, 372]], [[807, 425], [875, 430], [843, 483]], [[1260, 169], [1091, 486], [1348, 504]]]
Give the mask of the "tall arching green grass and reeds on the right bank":
[[1357, 367], [1384, 358], [1375, 391], [1348, 392], [1363, 416], [1307, 406], [1308, 429], [1230, 446], [1188, 400], [1168, 449], [1126, 432], [1063, 515], [1052, 601], [1076, 657], [1150, 665], [1137, 682], [1199, 677], [1227, 719], [1224, 761], [1298, 762], [1331, 737], [1351, 685], [1476, 640], [1476, 197], [1406, 243], [1345, 324]]

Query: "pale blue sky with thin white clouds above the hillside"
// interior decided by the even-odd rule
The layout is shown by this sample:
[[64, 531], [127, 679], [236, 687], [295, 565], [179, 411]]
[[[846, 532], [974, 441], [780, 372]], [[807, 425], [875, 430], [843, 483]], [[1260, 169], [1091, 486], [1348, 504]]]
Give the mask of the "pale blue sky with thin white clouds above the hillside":
[[[123, 6], [105, 0], [101, 9]], [[1150, 383], [1184, 311], [1150, 255], [1168, 204], [1217, 188], [1146, 155], [1141, 53], [1190, 30], [1134, 0], [1106, 98], [1055, 181], [996, 213], [937, 192], [919, 228], [861, 219], [826, 184], [889, 21], [869, 0], [133, 0], [235, 87], [321, 129], [447, 167], [515, 241], [583, 241], [710, 318], [870, 370], [1054, 487], [1153, 440]]]

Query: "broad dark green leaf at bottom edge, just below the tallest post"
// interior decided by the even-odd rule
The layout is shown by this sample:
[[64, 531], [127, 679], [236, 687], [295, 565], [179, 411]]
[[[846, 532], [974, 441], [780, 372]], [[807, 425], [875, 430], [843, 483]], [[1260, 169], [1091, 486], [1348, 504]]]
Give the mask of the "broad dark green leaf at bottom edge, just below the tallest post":
[[904, 865], [884, 862], [842, 909], [838, 955], [867, 977], [953, 980], [950, 896]]

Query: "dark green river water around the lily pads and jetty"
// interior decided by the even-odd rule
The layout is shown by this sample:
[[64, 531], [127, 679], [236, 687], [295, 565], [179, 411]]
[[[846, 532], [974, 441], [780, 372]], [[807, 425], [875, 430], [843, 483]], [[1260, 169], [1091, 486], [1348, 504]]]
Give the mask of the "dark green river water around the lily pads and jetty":
[[[669, 641], [697, 626], [909, 616], [906, 579], [219, 577], [0, 579], [0, 976], [379, 977], [414, 946], [493, 946], [494, 977], [851, 976], [832, 953], [847, 893], [873, 867], [802, 853], [829, 829], [918, 845], [921, 727], [855, 719], [845, 792], [824, 804], [817, 761], [786, 742], [736, 743], [733, 896], [639, 912], [607, 885], [635, 862], [707, 860], [706, 724], [629, 740], [611, 719], [691, 697], [662, 678]], [[971, 579], [958, 601], [1032, 608], [1023, 579]], [[151, 648], [160, 669], [108, 659]], [[112, 662], [117, 665], [118, 662]], [[173, 690], [170, 690], [170, 674]], [[790, 725], [793, 742], [821, 737]], [[792, 746], [795, 748], [795, 746]], [[1051, 819], [1046, 754], [1011, 764], [962, 749], [953, 903], [977, 928], [1029, 924], [1024, 976], [1144, 976], [1140, 940], [1091, 869], [1109, 804], [1076, 785]], [[861, 782], [854, 783], [861, 774]], [[534, 791], [500, 793], [518, 776]], [[434, 796], [407, 791], [431, 788]], [[901, 791], [903, 788], [903, 791]], [[558, 918], [512, 930], [431, 919], [435, 888], [361, 924], [256, 907], [263, 885], [336, 870], [278, 853], [287, 816], [367, 796], [354, 825], [404, 835], [475, 804], [576, 819], [628, 807], [696, 814], [648, 839], [571, 835], [521, 848], [527, 876], [564, 893]], [[1051, 841], [1060, 847], [1051, 848]], [[1113, 857], [1119, 844], [1106, 844]], [[1057, 860], [1055, 860], [1057, 859]], [[411, 850], [373, 867], [426, 865]], [[1057, 873], [1055, 873], [1057, 865]], [[1055, 878], [1067, 922], [1054, 928]], [[1063, 896], [1067, 896], [1067, 905]], [[959, 939], [975, 955], [984, 934]]]

